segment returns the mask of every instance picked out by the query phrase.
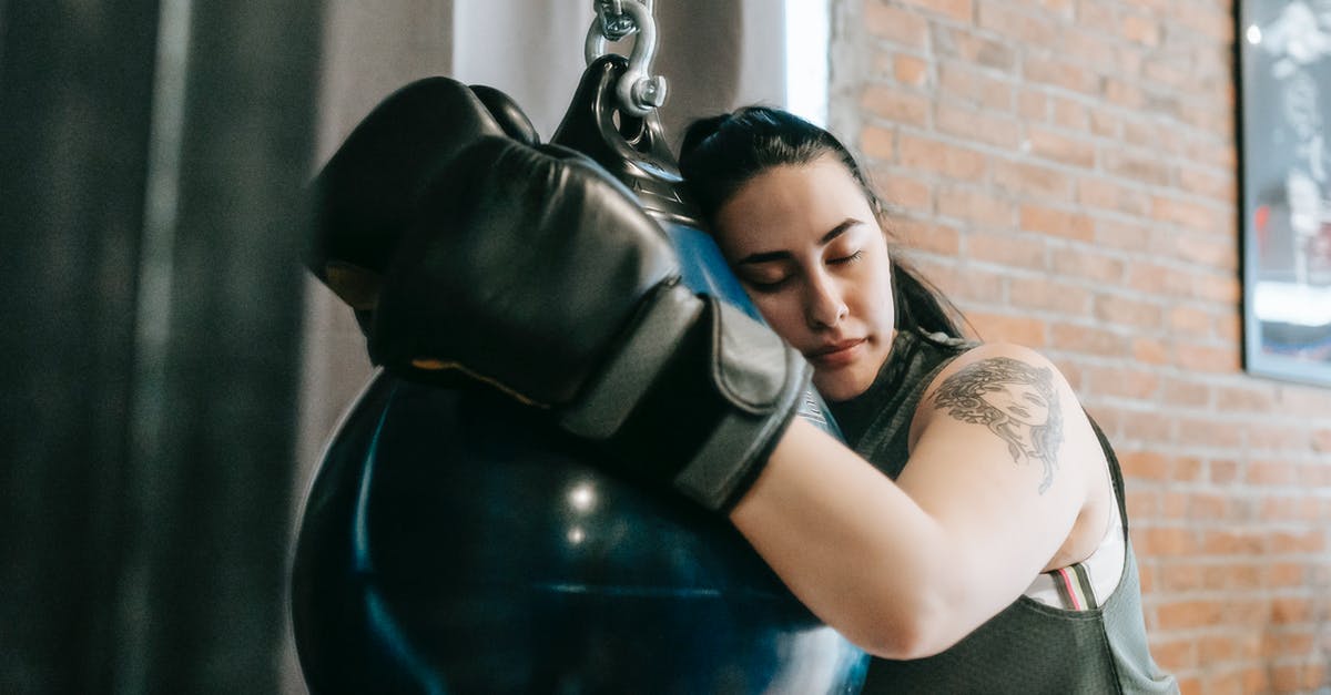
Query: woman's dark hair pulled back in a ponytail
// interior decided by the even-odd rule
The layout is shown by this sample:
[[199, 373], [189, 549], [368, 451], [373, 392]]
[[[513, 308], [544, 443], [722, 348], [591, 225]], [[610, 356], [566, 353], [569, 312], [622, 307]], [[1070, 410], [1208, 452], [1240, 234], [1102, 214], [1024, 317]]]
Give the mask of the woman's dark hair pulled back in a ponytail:
[[[812, 164], [825, 156], [836, 157], [849, 169], [878, 226], [886, 230], [882, 200], [851, 149], [832, 133], [785, 111], [745, 107], [693, 121], [684, 132], [679, 168], [703, 217], [715, 224], [721, 205], [755, 176], [773, 166]], [[964, 337], [961, 312], [898, 254], [890, 254], [890, 262], [897, 329]]]

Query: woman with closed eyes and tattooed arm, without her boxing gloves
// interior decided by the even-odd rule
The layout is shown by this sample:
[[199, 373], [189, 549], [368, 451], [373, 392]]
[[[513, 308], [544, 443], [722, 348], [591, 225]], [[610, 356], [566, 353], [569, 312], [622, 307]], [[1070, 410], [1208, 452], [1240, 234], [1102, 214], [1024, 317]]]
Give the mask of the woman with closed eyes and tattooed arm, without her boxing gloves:
[[680, 165], [848, 442], [894, 479], [792, 427], [731, 514], [801, 600], [884, 658], [865, 691], [1175, 688], [1146, 648], [1118, 465], [1058, 370], [961, 340], [825, 130], [741, 109], [695, 122]]

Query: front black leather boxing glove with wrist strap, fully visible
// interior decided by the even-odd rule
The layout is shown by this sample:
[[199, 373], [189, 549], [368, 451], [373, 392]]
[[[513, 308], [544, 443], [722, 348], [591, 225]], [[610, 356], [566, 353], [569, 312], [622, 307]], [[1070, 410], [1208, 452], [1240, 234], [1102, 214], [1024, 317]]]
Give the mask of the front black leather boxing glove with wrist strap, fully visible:
[[484, 137], [421, 200], [375, 308], [377, 362], [547, 407], [704, 507], [743, 497], [811, 367], [680, 285], [673, 248], [622, 184], [572, 150]]

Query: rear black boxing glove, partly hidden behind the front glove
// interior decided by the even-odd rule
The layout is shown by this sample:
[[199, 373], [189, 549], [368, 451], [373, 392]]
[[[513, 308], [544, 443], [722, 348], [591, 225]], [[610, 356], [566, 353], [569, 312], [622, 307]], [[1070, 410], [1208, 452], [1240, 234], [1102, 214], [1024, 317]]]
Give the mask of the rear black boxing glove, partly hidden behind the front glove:
[[305, 262], [357, 310], [362, 328], [383, 268], [435, 169], [478, 137], [504, 134], [530, 145], [539, 141], [503, 92], [427, 77], [379, 103], [315, 176]]

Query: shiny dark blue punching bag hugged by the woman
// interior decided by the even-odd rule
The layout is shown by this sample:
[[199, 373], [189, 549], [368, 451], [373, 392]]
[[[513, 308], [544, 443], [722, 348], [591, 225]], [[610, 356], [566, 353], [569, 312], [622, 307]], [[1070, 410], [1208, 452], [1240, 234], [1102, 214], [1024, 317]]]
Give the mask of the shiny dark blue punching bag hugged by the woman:
[[[560, 128], [606, 165], [576, 125], [600, 113], [587, 108], [622, 69], [612, 59], [588, 69]], [[632, 166], [648, 176], [630, 185], [697, 260], [688, 282], [741, 300], [668, 192], [669, 160], [644, 154]], [[619, 164], [616, 174], [630, 170]], [[650, 181], [676, 204], [651, 202]], [[378, 374], [333, 437], [301, 519], [291, 610], [310, 691], [858, 691], [864, 654], [727, 519], [604, 473], [600, 455], [488, 389]]]

